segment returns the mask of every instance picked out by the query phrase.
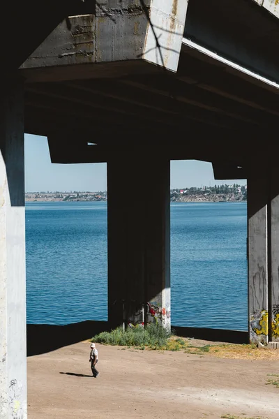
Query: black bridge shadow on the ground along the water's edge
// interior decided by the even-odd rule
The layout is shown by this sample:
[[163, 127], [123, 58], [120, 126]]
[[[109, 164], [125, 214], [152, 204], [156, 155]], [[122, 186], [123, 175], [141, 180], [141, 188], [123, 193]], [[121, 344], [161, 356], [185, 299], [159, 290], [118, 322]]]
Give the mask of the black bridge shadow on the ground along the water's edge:
[[[173, 326], [175, 335], [232, 344], [248, 344], [248, 332]], [[91, 339], [97, 333], [110, 330], [107, 321], [83, 321], [70, 325], [27, 325], [27, 356], [47, 353], [77, 342]]]

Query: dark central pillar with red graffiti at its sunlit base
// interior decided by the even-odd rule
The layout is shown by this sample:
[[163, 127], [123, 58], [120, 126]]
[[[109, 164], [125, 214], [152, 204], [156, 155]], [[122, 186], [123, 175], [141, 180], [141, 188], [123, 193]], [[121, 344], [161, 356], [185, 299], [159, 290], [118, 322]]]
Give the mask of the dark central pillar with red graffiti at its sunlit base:
[[127, 154], [107, 162], [108, 314], [112, 327], [170, 328], [169, 161]]

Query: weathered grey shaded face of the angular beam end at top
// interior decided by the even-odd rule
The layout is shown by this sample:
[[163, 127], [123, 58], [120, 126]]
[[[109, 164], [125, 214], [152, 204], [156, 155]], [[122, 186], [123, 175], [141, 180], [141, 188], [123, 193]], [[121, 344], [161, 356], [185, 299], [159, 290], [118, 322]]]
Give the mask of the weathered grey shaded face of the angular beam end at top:
[[[144, 12], [96, 12], [64, 20], [21, 68], [45, 68], [139, 59], [144, 46]], [[137, 22], [137, 34], [134, 34]], [[133, 35], [132, 35], [133, 34]], [[128, 42], [125, 42], [128, 41]]]

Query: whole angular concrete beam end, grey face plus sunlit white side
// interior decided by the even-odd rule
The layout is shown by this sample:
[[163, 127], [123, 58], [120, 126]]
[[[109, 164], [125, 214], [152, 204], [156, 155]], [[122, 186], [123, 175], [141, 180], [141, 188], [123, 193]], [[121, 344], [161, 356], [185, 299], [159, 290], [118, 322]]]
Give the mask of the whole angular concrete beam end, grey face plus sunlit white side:
[[[63, 20], [21, 70], [27, 82], [112, 76], [119, 68], [119, 74], [151, 71], [144, 61], [176, 71], [187, 5], [188, 0], [96, 3], [94, 14]], [[102, 66], [113, 61], [118, 64]]]

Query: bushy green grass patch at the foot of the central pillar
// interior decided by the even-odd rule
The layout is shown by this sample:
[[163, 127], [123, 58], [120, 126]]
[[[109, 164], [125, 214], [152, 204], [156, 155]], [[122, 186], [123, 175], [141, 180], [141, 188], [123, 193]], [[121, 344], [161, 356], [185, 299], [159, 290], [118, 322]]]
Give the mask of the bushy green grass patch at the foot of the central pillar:
[[170, 332], [163, 326], [151, 324], [146, 328], [127, 328], [124, 331], [119, 327], [111, 332], [101, 332], [91, 341], [104, 345], [135, 346], [137, 349], [144, 349], [146, 346], [151, 349], [166, 349], [169, 337]]

